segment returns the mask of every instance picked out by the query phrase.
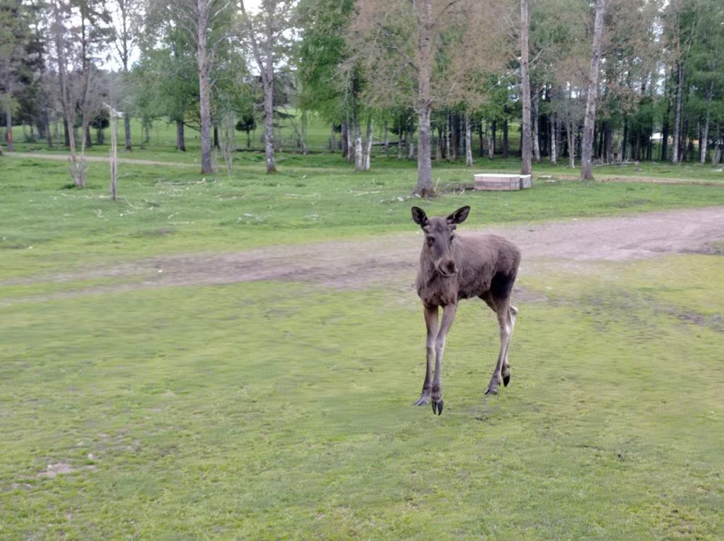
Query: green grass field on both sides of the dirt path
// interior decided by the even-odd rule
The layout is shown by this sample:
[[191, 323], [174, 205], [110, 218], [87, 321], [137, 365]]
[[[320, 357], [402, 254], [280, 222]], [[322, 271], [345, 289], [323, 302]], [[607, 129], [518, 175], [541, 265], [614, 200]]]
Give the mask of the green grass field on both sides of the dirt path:
[[[62, 161], [0, 158], [0, 538], [720, 539], [720, 255], [523, 273], [513, 380], [490, 399], [497, 328], [462, 304], [437, 417], [411, 406], [424, 370], [412, 277], [140, 289], [80, 274], [413, 231], [414, 163], [378, 157], [354, 174], [337, 156], [282, 153], [267, 176], [239, 153], [231, 176], [205, 177], [122, 164], [115, 203], [108, 166], [89, 171], [79, 190]], [[471, 171], [445, 163], [424, 207], [470, 204], [469, 226], [484, 226], [724, 205], [717, 186], [563, 171], [471, 192]]]

